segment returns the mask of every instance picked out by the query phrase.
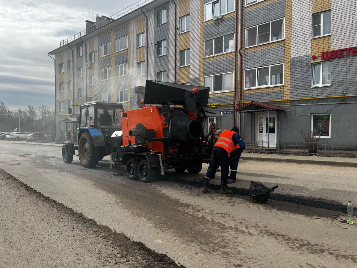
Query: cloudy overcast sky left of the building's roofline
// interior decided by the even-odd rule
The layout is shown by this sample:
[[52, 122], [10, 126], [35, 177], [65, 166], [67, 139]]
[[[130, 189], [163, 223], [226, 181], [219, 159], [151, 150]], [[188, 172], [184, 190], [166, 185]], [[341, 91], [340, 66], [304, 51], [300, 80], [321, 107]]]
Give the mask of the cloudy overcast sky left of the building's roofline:
[[9, 109], [54, 108], [54, 60], [47, 53], [84, 30], [85, 20], [111, 16], [137, 1], [0, 0], [0, 101]]

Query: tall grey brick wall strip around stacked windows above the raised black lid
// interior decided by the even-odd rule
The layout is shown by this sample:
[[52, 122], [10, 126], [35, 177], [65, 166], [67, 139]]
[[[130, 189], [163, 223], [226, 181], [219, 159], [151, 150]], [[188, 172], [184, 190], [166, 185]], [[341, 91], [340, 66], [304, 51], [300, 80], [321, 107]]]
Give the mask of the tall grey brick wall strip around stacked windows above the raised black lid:
[[[166, 23], [157, 25], [157, 11], [166, 8]], [[166, 2], [160, 6], [157, 6], [154, 9], [154, 44], [157, 44], [158, 41], [166, 39], [166, 55], [157, 56], [157, 45], [155, 47], [154, 53], [154, 79], [157, 79], [157, 72], [166, 71], [167, 80], [169, 79], [169, 53], [170, 53], [170, 40], [169, 40], [169, 30], [170, 30], [170, 2]]]

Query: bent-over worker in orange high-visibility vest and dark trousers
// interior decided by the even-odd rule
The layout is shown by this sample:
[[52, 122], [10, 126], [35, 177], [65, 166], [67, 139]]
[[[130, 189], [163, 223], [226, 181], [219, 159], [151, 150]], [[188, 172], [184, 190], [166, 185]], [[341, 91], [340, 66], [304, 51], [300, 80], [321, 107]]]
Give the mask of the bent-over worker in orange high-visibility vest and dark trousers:
[[232, 130], [225, 130], [220, 134], [217, 142], [213, 146], [210, 164], [208, 166], [206, 177], [203, 179], [203, 193], [208, 192], [208, 182], [210, 179], [216, 177], [216, 168], [218, 163], [221, 165], [221, 194], [230, 194], [231, 190], [227, 189], [228, 173], [229, 173], [229, 161], [228, 157], [236, 148], [236, 145], [242, 145], [245, 147], [243, 139], [239, 136], [239, 129], [233, 126]]

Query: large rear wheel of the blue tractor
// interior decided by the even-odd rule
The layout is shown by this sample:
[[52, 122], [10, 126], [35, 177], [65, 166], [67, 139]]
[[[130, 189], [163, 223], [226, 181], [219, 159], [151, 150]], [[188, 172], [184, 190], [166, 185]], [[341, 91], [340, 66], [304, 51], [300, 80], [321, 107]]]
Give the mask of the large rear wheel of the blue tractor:
[[94, 168], [100, 159], [100, 148], [94, 147], [93, 138], [87, 132], [79, 138], [78, 155], [85, 168]]

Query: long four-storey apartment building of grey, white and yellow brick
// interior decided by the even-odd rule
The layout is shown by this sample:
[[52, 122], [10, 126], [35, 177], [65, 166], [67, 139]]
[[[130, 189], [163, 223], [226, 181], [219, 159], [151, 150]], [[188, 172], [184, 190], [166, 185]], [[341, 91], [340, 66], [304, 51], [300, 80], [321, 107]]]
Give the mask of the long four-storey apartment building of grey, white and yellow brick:
[[246, 142], [354, 142], [356, 29], [353, 0], [141, 0], [98, 15], [49, 53], [57, 137], [74, 129], [68, 105], [136, 109], [156, 79], [209, 86], [207, 122], [238, 125]]

